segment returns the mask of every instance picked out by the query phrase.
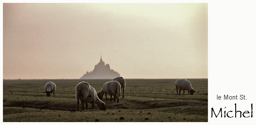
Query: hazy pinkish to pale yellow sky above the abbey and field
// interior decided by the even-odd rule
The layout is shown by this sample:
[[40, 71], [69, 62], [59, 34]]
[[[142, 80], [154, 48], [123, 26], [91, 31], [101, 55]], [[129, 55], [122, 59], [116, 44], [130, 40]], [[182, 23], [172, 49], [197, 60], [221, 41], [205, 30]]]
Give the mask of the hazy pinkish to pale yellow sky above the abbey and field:
[[3, 78], [208, 78], [207, 3], [4, 3]]

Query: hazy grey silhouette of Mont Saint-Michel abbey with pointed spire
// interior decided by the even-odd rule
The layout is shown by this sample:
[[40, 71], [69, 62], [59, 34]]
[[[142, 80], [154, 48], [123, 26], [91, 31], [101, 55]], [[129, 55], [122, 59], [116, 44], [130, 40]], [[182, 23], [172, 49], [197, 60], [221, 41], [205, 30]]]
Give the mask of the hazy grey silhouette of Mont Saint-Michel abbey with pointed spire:
[[100, 56], [100, 62], [95, 65], [94, 70], [90, 73], [86, 72], [80, 79], [113, 79], [117, 76], [120, 76], [120, 74], [110, 69], [108, 64], [105, 65]]

